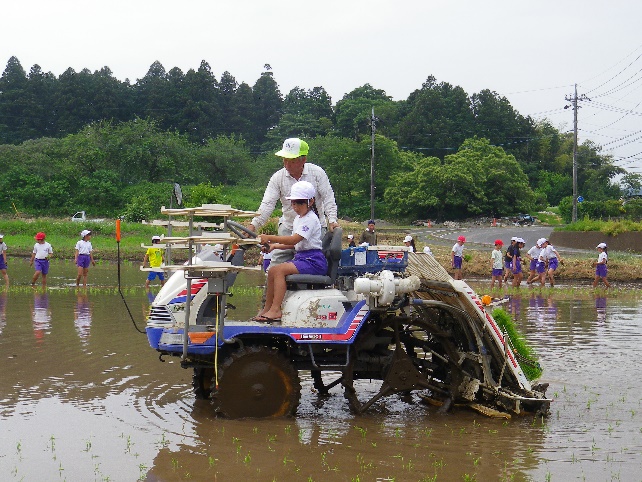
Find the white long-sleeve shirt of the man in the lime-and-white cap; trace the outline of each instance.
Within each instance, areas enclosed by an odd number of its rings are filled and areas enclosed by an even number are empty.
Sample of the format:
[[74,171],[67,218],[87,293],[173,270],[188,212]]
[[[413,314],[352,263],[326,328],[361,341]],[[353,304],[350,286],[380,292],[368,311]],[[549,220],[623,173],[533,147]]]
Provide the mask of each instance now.
[[277,201],[279,200],[283,207],[283,216],[281,216],[279,222],[290,231],[292,230],[292,223],[294,222],[294,218],[297,214],[294,209],[292,209],[290,201],[285,199],[285,196],[290,195],[292,185],[298,181],[308,181],[314,186],[314,189],[317,192],[315,204],[319,211],[319,221],[321,222],[321,226],[327,227],[328,222],[337,222],[337,202],[334,199],[334,191],[330,185],[328,175],[316,164],[306,162],[303,166],[303,174],[301,174],[300,179],[295,179],[290,176],[285,168],[272,174],[270,182],[268,182],[268,185],[265,188],[263,201],[261,201],[261,205],[258,209],[260,214],[252,219],[252,224],[257,230],[268,221],[276,207]]

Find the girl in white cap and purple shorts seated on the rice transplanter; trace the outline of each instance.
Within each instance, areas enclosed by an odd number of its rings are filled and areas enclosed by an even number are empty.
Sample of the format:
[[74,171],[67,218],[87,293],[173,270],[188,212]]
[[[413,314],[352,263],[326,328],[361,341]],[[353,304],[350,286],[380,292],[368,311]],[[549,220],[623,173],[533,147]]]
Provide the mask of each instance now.
[[270,266],[268,270],[267,293],[265,306],[254,321],[263,323],[281,321],[281,303],[287,288],[285,277],[290,274],[325,275],[328,262],[321,251],[321,223],[314,206],[316,191],[307,181],[294,183],[286,199],[297,213],[294,219],[292,235],[277,236],[261,234],[261,244],[269,243],[272,249],[294,249],[292,261]]

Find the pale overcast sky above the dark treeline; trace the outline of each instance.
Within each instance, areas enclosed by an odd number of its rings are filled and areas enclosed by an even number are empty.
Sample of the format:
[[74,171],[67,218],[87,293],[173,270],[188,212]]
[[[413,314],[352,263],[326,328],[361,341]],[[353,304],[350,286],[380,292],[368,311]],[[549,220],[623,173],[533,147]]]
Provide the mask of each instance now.
[[429,75],[470,95],[490,89],[523,115],[642,173],[642,4],[633,0],[20,0],[0,13],[0,68],[16,56],[60,75],[109,67],[135,82],[207,61],[253,85],[270,64],[282,94],[324,87],[333,103],[370,83],[406,99]]

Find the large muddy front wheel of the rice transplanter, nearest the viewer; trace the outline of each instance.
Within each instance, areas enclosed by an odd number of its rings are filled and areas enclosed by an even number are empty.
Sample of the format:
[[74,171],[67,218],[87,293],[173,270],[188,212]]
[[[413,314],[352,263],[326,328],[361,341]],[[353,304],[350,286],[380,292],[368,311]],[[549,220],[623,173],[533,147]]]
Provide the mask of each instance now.
[[267,347],[246,347],[230,355],[212,390],[217,413],[229,418],[270,418],[293,415],[301,383],[289,360]]

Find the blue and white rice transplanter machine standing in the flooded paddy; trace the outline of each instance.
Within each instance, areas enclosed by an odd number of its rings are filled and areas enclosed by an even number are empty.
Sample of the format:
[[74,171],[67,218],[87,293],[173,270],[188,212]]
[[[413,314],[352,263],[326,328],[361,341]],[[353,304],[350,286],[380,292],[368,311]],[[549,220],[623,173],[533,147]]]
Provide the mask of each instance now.
[[[163,213],[214,215],[190,209]],[[292,415],[301,372],[311,374],[319,393],[341,386],[356,413],[395,394],[443,410],[464,404],[483,413],[548,413],[547,385],[527,379],[487,306],[432,256],[405,246],[342,250],[336,228],[323,240],[328,274],[287,277],[280,322],[232,318],[229,291],[236,272],[253,269],[243,266],[244,252],[257,243],[245,237],[252,231],[229,220],[239,212],[217,215],[229,232],[164,242],[190,249],[220,243],[227,261],[203,247],[186,265],[167,266],[176,272],[152,303],[146,326],[161,361],[180,357],[181,367],[193,370],[195,396],[210,399],[216,413]],[[377,383],[376,393],[362,391],[358,380]]]

